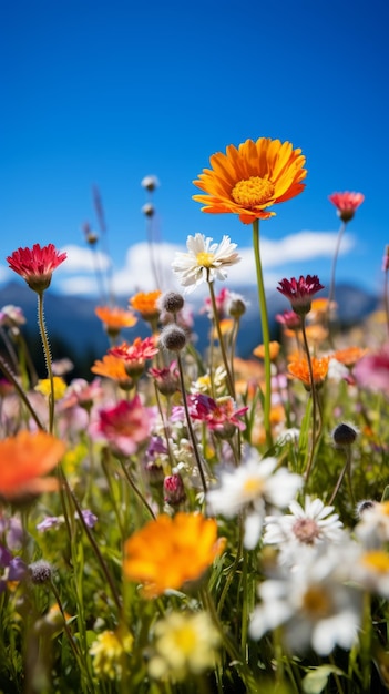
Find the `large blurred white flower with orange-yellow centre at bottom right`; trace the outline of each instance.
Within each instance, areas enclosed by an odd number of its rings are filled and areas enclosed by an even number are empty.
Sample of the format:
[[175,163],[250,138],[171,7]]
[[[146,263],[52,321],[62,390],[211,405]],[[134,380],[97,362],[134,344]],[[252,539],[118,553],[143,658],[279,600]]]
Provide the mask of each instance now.
[[362,593],[338,571],[347,543],[320,549],[300,570],[260,584],[262,603],[249,626],[253,639],[283,625],[285,645],[295,653],[313,647],[328,655],[336,645],[352,646],[361,622]]

